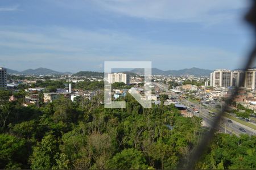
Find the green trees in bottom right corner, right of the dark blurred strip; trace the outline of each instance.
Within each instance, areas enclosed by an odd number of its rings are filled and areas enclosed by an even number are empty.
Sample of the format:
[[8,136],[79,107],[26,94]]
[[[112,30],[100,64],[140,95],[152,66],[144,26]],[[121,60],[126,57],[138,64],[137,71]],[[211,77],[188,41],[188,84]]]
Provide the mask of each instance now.
[[255,136],[218,134],[196,169],[255,169]]

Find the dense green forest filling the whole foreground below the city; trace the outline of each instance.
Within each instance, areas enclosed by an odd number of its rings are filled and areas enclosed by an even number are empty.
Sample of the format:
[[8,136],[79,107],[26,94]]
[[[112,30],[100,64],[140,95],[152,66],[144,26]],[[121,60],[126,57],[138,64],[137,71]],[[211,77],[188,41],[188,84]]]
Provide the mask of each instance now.
[[[130,95],[125,109],[105,109],[102,94],[40,107],[10,95],[0,91],[0,169],[175,169],[207,130],[174,105],[143,109]],[[255,136],[216,133],[196,168],[255,169],[255,145]]]

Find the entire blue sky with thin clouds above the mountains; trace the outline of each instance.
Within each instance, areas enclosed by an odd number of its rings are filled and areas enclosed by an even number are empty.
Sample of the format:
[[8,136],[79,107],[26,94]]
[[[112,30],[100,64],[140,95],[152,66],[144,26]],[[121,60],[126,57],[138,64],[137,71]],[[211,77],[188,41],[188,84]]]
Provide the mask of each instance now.
[[253,32],[245,0],[0,1],[0,66],[103,71],[104,61],[162,70],[235,69]]

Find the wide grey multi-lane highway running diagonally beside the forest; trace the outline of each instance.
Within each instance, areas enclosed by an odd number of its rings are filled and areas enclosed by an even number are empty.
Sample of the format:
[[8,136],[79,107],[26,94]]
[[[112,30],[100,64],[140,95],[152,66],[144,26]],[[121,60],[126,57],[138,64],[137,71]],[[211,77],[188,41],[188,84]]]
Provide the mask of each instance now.
[[[179,95],[175,94],[174,92],[171,92],[168,90],[168,86],[166,84],[163,83],[155,83],[152,82],[152,85],[157,86],[160,88],[160,90],[162,90],[162,93],[168,94],[168,95],[172,95],[174,97],[177,97],[177,99],[179,99]],[[197,108],[200,110],[199,113],[193,113],[195,116],[199,116],[201,118],[203,118],[204,124],[207,124],[208,126],[211,126],[213,124],[213,120],[214,120],[214,116],[211,116],[212,114],[210,114],[210,108],[209,107],[205,107],[203,105],[201,105],[201,109],[200,109],[200,105],[199,104],[195,104],[192,103],[191,101],[188,101],[186,99],[182,99],[179,100],[179,102],[183,103],[184,105],[186,105],[190,110],[192,111],[192,108]],[[193,107],[191,107],[191,105],[193,105]],[[251,129],[245,125],[240,124],[239,122],[233,121],[232,123],[228,122],[229,118],[226,117],[222,117],[221,118],[221,122],[218,124],[218,129],[220,130],[222,133],[232,133],[232,134],[236,134],[236,135],[240,135],[240,134],[248,134],[248,135],[256,135],[256,130]],[[246,131],[243,132],[240,129],[245,129]]]

